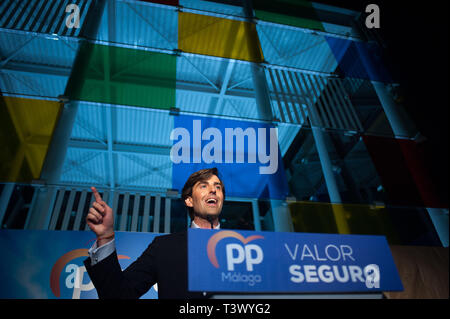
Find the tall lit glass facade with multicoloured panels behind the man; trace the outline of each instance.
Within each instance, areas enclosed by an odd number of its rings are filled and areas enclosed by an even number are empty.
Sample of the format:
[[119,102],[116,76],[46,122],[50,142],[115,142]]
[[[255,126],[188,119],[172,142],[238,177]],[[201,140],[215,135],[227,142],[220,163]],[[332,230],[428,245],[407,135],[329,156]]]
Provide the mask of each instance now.
[[[31,41],[10,23],[28,11],[0,18],[2,228],[87,230],[96,186],[116,230],[177,232],[189,224],[187,176],[219,167],[222,228],[442,244],[427,209],[448,216],[448,199],[420,146],[398,134],[380,46],[338,23],[344,13],[281,0],[253,1],[254,17],[212,1],[109,1],[89,19],[91,9],[82,29],[93,38],[48,15],[28,18]],[[42,179],[45,161],[62,166],[58,183]]]

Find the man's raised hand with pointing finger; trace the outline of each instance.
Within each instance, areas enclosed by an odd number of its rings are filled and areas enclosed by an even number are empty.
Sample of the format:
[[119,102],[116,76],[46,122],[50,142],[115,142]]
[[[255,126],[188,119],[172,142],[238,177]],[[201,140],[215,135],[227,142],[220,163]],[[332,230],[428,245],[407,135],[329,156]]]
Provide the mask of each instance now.
[[89,208],[86,223],[97,236],[98,246],[112,240],[114,236],[114,216],[111,207],[102,199],[95,187],[91,187],[95,201]]

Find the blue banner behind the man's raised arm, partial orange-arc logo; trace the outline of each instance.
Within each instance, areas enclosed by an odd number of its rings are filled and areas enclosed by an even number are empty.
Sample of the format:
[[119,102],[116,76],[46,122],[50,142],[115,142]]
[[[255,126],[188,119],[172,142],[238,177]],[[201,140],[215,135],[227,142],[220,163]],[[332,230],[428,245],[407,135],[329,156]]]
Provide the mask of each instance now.
[[[116,232],[122,269],[135,261],[156,236]],[[0,298],[98,298],[83,264],[94,241],[95,235],[89,231],[0,230]],[[155,288],[141,298],[156,299]]]

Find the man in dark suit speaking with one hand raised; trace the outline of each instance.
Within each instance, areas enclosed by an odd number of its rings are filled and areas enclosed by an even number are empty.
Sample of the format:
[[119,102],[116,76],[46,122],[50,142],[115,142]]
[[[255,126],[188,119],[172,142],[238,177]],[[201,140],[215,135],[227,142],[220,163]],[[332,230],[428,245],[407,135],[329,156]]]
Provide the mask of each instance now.
[[[191,227],[219,228],[225,188],[217,168],[193,173],[182,190],[182,199],[192,220]],[[189,292],[187,282],[187,231],[156,237],[142,255],[121,270],[114,243],[111,207],[92,187],[95,202],[86,222],[97,241],[84,261],[99,298],[139,298],[155,283],[158,297],[170,299],[205,298],[208,294]]]

